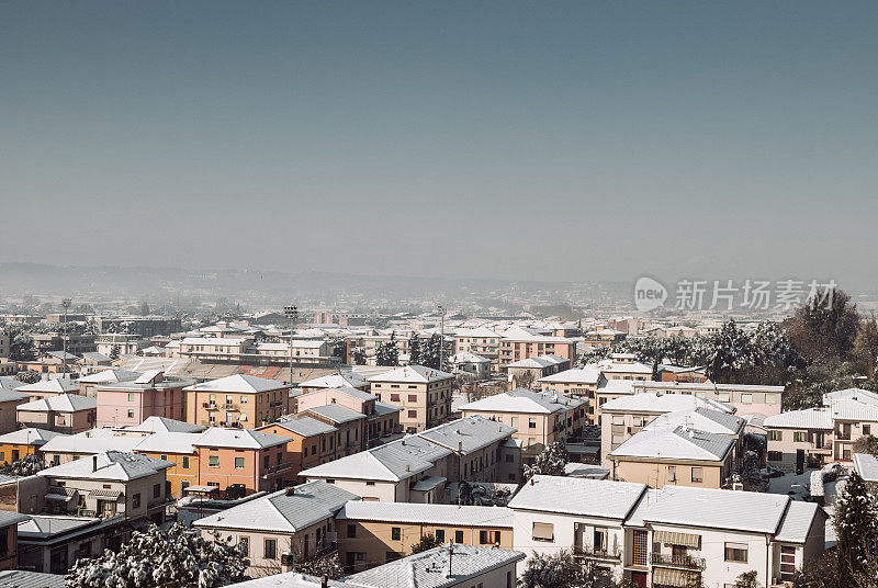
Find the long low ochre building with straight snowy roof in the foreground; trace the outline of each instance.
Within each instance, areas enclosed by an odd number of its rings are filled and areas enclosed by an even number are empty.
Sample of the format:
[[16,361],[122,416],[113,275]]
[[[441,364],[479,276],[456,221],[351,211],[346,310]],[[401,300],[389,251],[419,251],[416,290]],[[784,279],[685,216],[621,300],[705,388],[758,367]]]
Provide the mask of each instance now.
[[503,507],[351,500],[336,514],[348,573],[412,555],[425,535],[441,543],[513,549],[513,511]]

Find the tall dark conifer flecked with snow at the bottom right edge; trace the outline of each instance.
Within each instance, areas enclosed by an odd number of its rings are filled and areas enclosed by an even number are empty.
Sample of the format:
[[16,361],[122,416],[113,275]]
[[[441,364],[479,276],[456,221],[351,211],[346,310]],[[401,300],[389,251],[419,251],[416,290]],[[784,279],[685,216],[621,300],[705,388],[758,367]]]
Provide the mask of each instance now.
[[878,552],[878,504],[856,471],[851,473],[844,488],[835,497],[832,524],[837,538],[840,577],[856,578],[865,575],[875,578],[878,574],[878,568],[875,567]]

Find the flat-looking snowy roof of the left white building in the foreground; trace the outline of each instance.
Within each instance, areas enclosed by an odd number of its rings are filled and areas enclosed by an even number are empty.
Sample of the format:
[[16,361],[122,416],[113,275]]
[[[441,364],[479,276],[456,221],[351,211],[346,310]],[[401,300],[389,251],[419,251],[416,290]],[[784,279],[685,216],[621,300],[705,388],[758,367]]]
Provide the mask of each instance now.
[[509,508],[623,520],[645,490],[645,484],[630,482],[537,475]]

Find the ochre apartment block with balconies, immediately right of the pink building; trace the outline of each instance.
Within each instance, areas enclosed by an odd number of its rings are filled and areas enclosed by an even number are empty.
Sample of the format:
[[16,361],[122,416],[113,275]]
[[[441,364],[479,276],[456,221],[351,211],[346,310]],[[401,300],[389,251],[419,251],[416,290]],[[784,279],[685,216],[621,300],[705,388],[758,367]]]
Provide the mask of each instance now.
[[292,386],[275,380],[235,374],[193,384],[187,394],[187,422],[202,427],[255,429],[295,412]]

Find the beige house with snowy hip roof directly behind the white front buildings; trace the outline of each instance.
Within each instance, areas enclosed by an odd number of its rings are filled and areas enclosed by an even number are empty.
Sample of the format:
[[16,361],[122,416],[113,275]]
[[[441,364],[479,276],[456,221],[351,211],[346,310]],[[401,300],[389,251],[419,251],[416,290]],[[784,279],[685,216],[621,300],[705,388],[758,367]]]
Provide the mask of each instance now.
[[722,488],[734,468],[735,439],[685,426],[640,431],[607,459],[610,477],[663,488]]

